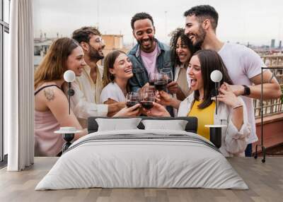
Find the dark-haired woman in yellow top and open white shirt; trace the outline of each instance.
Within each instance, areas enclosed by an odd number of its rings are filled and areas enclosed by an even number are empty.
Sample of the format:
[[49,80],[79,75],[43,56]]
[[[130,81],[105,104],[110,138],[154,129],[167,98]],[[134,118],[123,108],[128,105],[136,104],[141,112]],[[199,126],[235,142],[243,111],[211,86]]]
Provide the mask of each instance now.
[[[217,96],[220,101],[217,114],[212,98],[215,94],[214,82],[210,79],[210,74],[214,70],[219,70],[223,74]],[[226,125],[227,127],[222,128],[221,153],[225,156],[244,156],[247,138],[250,135],[246,106],[241,97],[236,97],[231,90],[230,85],[233,85],[233,82],[219,54],[213,50],[196,52],[190,59],[188,76],[194,93],[181,102],[161,91],[156,97],[161,105],[154,102],[154,107],[146,114],[156,117],[170,116],[162,105],[171,105],[178,109],[178,117],[197,117],[197,131],[205,138],[209,138],[209,129],[204,129],[204,125]]]

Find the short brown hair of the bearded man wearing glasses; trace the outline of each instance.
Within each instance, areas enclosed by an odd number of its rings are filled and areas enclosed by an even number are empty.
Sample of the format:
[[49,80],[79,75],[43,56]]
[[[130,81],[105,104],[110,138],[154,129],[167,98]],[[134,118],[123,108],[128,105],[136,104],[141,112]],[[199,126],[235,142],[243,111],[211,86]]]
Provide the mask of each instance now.
[[71,36],[77,42],[86,42],[88,43],[89,40],[93,35],[101,35],[98,29],[94,27],[82,27],[78,30],[74,30],[73,35]]

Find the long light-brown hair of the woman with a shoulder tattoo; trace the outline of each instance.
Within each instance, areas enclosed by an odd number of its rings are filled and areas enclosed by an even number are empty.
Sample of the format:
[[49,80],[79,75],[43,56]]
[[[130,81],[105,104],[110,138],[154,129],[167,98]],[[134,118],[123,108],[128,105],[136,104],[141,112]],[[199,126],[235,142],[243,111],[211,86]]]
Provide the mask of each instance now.
[[76,47],[79,47],[78,42],[68,37],[54,41],[35,71],[34,88],[47,81],[61,80],[67,71],[66,61]]

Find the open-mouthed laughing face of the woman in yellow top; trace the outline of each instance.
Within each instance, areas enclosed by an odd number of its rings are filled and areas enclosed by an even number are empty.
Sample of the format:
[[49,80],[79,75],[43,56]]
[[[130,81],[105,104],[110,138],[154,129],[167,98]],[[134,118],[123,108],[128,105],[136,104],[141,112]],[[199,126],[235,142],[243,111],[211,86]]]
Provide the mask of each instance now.
[[200,59],[197,57],[197,55],[194,55],[190,59],[188,75],[190,77],[190,87],[192,90],[202,90],[204,88]]

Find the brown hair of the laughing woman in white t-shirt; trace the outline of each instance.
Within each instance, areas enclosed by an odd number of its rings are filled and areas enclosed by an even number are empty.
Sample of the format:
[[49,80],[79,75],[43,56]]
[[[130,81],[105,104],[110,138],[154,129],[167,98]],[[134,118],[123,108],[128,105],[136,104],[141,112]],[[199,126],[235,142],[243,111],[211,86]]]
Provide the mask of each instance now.
[[115,50],[107,54],[107,56],[104,59],[104,70],[103,70],[103,87],[105,85],[108,85],[108,83],[113,82],[115,79],[115,76],[110,73],[109,69],[114,68],[115,60],[117,59],[120,54],[126,54],[125,52],[122,52],[121,50]]

